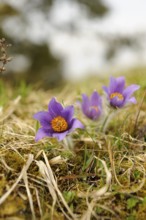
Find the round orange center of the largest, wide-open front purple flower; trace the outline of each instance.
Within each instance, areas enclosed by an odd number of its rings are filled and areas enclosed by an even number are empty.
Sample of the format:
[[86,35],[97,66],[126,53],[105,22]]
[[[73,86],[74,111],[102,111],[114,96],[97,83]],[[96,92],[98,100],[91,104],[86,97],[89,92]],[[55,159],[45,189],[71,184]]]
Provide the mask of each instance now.
[[61,116],[57,116],[53,118],[51,121],[51,125],[52,125],[53,130],[56,132],[62,132],[68,129],[67,121]]

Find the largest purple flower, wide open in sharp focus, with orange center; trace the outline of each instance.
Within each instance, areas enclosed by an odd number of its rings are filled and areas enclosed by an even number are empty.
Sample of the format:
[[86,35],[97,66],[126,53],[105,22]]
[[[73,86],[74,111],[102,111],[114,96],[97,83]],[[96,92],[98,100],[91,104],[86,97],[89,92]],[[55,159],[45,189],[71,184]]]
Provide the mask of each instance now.
[[78,119],[73,118],[73,115],[74,107],[72,105],[63,108],[55,98],[52,98],[48,105],[48,111],[41,111],[34,115],[34,118],[41,124],[35,140],[54,137],[61,141],[76,128],[83,129],[83,124]]

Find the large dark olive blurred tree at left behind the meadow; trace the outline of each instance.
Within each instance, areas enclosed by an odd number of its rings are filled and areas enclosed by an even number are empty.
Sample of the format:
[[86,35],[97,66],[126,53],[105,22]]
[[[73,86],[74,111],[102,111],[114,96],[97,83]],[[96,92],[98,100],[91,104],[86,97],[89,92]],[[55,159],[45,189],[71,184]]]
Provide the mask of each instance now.
[[[49,6],[50,4],[51,1],[48,1]],[[21,11],[6,3],[0,4],[1,23],[12,16],[21,19],[24,15],[21,14]],[[25,22],[23,24],[25,29]],[[54,86],[62,80],[60,61],[52,56],[49,46],[46,43],[43,42],[38,45],[29,41],[29,39],[27,41],[20,40],[19,37],[16,39],[11,36],[11,33],[4,32],[2,26],[0,27],[0,36],[5,37],[8,42],[11,42],[11,55],[14,57],[13,59],[15,59],[16,55],[20,54],[26,56],[30,61],[29,68],[26,72],[22,69],[15,74],[15,71],[11,70],[6,75],[3,75],[4,79],[14,83],[23,79],[28,83],[38,82],[39,85],[45,87]]]

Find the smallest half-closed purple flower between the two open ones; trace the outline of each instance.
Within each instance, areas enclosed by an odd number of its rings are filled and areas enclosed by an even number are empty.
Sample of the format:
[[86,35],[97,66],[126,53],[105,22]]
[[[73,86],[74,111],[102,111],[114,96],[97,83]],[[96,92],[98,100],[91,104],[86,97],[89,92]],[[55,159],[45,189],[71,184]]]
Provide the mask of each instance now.
[[102,113],[102,101],[98,92],[94,91],[90,97],[82,94],[82,111],[90,119],[96,120]]

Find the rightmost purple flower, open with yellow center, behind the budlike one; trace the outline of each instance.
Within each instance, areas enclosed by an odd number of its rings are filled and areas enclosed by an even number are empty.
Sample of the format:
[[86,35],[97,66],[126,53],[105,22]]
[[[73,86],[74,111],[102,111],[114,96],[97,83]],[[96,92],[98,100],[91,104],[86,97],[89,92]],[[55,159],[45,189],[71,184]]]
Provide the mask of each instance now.
[[135,84],[125,88],[125,78],[123,76],[111,77],[109,87],[103,86],[107,99],[114,108],[122,108],[127,103],[136,104],[136,99],[132,95],[139,88],[140,86]]

